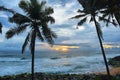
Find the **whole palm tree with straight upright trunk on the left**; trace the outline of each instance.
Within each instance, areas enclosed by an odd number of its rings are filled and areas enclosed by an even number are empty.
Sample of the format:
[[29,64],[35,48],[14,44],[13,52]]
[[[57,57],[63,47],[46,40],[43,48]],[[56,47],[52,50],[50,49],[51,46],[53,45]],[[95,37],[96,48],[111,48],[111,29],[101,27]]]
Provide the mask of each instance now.
[[15,12],[12,17],[9,18],[9,22],[15,23],[16,27],[9,29],[6,32],[6,38],[12,38],[14,35],[25,32],[26,29],[29,30],[25,38],[24,44],[22,46],[22,53],[27,45],[30,47],[32,55],[32,80],[34,80],[34,53],[35,53],[35,41],[39,39],[41,41],[46,40],[49,44],[53,44],[53,38],[56,38],[56,34],[48,27],[48,23],[54,23],[55,20],[51,16],[54,12],[53,8],[46,7],[46,2],[41,3],[38,0],[21,0],[19,7],[25,12],[25,14],[20,14]]

